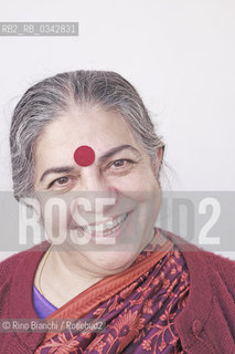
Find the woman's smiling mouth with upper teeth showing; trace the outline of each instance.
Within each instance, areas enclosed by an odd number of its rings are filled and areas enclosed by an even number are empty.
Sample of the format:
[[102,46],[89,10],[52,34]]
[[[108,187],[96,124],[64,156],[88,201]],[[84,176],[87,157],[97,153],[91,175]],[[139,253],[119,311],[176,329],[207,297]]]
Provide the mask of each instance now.
[[111,237],[122,228],[130,212],[122,214],[107,222],[99,222],[81,227],[81,229],[92,237]]

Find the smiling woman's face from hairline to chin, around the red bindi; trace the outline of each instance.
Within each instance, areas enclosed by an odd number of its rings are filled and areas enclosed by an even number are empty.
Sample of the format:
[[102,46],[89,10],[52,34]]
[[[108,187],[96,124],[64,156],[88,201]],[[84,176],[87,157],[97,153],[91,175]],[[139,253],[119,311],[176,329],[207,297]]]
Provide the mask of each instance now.
[[[95,152],[88,166],[74,160],[84,145]],[[157,168],[160,160],[161,149]],[[153,236],[157,174],[120,115],[86,107],[60,116],[35,146],[34,188],[47,236],[57,244],[65,240],[61,248],[85,270],[107,275],[126,269]]]

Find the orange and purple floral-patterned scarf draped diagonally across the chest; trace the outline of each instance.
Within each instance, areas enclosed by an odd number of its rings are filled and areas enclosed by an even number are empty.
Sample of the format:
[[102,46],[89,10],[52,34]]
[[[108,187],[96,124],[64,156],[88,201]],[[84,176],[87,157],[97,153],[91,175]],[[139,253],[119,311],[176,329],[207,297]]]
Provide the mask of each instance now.
[[104,332],[47,332],[35,354],[183,354],[173,321],[185,306],[189,272],[178,248],[161,241],[156,229],[129,269],[106,277],[45,319],[102,319]]

